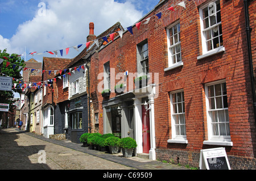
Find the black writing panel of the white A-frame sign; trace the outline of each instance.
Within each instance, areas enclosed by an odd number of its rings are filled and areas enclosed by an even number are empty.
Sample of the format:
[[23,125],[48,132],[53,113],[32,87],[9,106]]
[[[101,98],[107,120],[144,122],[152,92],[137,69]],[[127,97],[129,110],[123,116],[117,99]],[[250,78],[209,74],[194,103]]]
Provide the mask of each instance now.
[[228,170],[226,157],[207,158],[207,163],[210,170]]

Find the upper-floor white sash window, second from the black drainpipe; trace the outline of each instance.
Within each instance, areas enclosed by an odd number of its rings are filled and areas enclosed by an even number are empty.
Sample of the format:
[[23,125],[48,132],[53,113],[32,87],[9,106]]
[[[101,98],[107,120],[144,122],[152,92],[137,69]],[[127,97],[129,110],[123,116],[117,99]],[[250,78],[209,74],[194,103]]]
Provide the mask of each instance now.
[[181,63],[180,23],[167,28],[168,66]]

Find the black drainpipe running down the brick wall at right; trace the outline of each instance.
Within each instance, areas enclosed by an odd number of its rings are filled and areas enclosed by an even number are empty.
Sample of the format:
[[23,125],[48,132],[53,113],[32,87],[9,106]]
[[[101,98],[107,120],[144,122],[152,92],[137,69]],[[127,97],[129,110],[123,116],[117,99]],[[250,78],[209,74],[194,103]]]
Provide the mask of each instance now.
[[249,18],[249,2],[250,0],[243,0],[243,6],[245,8],[245,30],[247,37],[247,50],[250,66],[250,78],[251,78],[251,93],[253,95],[253,111],[254,111],[254,121],[256,124],[256,96],[255,96],[255,81],[254,81],[254,71],[253,71],[253,56],[251,53],[251,28],[250,28],[250,18]]

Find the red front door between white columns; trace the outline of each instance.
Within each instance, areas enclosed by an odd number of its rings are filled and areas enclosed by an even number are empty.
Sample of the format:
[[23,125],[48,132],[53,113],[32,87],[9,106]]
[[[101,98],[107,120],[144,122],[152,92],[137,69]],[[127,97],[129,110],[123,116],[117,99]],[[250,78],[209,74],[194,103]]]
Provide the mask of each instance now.
[[149,153],[150,150],[150,117],[148,111],[142,106],[142,139],[143,153]]

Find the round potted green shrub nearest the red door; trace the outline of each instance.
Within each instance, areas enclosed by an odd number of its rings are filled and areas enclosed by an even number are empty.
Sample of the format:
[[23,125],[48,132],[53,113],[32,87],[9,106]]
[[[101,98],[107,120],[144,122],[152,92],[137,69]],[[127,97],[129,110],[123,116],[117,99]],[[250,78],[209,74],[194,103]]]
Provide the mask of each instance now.
[[129,158],[133,156],[133,151],[137,148],[136,141],[131,137],[121,138],[119,146],[122,148],[123,157]]

